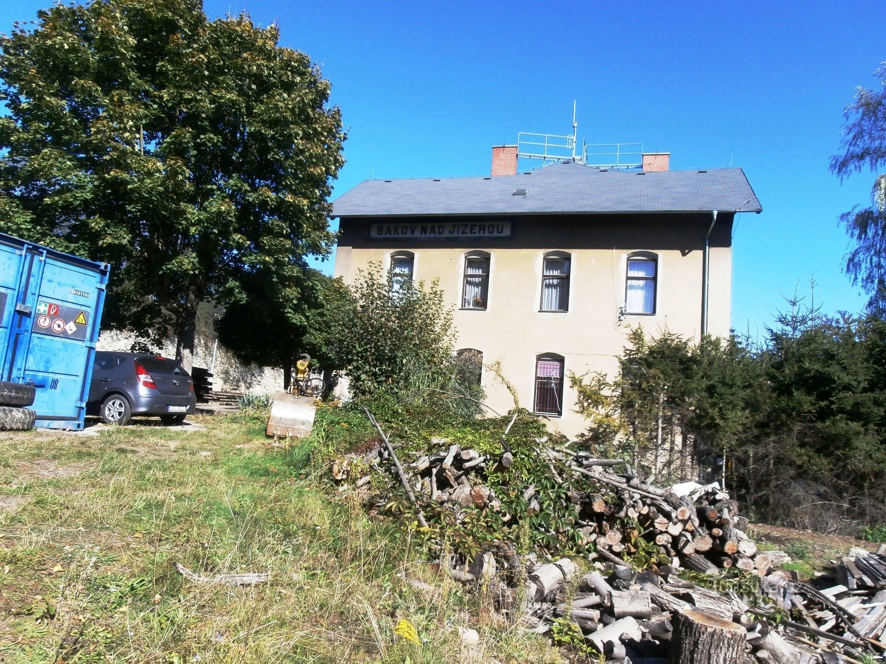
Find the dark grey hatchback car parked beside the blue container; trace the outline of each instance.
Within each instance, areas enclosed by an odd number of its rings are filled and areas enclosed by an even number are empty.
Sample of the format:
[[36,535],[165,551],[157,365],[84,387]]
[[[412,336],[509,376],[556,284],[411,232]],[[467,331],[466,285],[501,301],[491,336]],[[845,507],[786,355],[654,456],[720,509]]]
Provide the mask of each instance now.
[[174,359],[98,351],[86,408],[110,424],[128,424],[133,415],[181,424],[197,413],[197,398],[190,375]]

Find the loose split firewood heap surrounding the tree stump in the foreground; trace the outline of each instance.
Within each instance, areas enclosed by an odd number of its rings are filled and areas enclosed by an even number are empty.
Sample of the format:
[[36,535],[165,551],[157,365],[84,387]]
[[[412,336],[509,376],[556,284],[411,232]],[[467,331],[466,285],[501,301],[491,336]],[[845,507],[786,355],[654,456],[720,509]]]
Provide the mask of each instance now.
[[[886,572],[886,556],[872,554],[843,559],[837,573],[853,575],[859,560],[861,567]],[[760,584],[774,601],[751,607],[736,592],[684,581],[680,570],[671,567],[655,572],[636,572],[627,562],[597,567],[578,578],[570,559],[529,569],[521,622],[544,634],[557,620],[568,620],[608,660],[634,664],[829,664],[866,655],[879,659],[886,650],[883,579],[863,573],[878,585],[862,588],[867,581],[853,575],[853,594],[842,584],[818,590],[776,570]],[[801,614],[804,622],[791,620],[789,611]]]

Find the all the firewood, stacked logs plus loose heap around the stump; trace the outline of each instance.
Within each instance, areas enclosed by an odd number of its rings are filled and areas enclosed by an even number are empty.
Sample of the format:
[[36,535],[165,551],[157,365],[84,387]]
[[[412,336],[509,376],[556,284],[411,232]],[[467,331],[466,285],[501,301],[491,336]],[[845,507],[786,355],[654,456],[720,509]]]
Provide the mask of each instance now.
[[[398,446],[369,418],[384,444],[364,452],[359,463],[338,459],[333,475],[340,482],[365,486],[369,475],[350,468],[368,473],[386,459],[422,525],[423,506],[434,503],[455,521],[469,506],[498,511],[505,522],[523,518],[503,513],[501,498],[488,486],[490,475],[508,475],[514,462],[509,451],[491,455],[438,438],[431,441],[435,451],[413,452],[401,464]],[[642,483],[622,459],[538,443],[537,463],[556,483],[571,481],[568,500],[581,537],[591,544],[593,571],[578,575],[567,558],[538,564],[507,542],[472,560],[453,555],[438,564],[456,581],[486,583],[501,612],[527,629],[541,634],[571,622],[596,652],[634,664],[829,664],[880,660],[886,652],[886,555],[847,557],[835,562],[833,575],[817,577],[818,587],[800,583],[796,573],[779,568],[790,560],[786,553],[758,550],[746,534],[748,520],[718,484],[660,488]],[[532,484],[519,490],[526,514],[538,513],[540,491]],[[651,565],[649,552],[655,554]],[[756,579],[752,588],[740,594],[726,578],[711,578],[703,585],[719,588],[712,591],[681,578],[686,570],[720,577],[728,567],[747,573],[745,582]],[[828,579],[836,584],[821,587]]]

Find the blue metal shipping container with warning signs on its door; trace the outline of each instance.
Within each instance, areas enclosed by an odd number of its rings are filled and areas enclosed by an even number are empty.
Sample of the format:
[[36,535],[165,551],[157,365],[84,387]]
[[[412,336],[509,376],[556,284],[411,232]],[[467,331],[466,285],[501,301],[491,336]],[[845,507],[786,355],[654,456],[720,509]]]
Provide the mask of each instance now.
[[0,233],[0,380],[35,385],[37,427],[83,429],[109,272]]

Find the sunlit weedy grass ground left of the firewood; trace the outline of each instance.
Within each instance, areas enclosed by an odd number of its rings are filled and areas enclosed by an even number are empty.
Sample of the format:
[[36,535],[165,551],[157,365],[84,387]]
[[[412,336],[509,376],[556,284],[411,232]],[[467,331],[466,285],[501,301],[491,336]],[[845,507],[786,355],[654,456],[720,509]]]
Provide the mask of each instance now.
[[[0,434],[0,660],[562,660],[434,575],[408,530],[330,491],[310,439],[270,445],[248,414],[191,421]],[[270,579],[192,583],[173,561]]]

